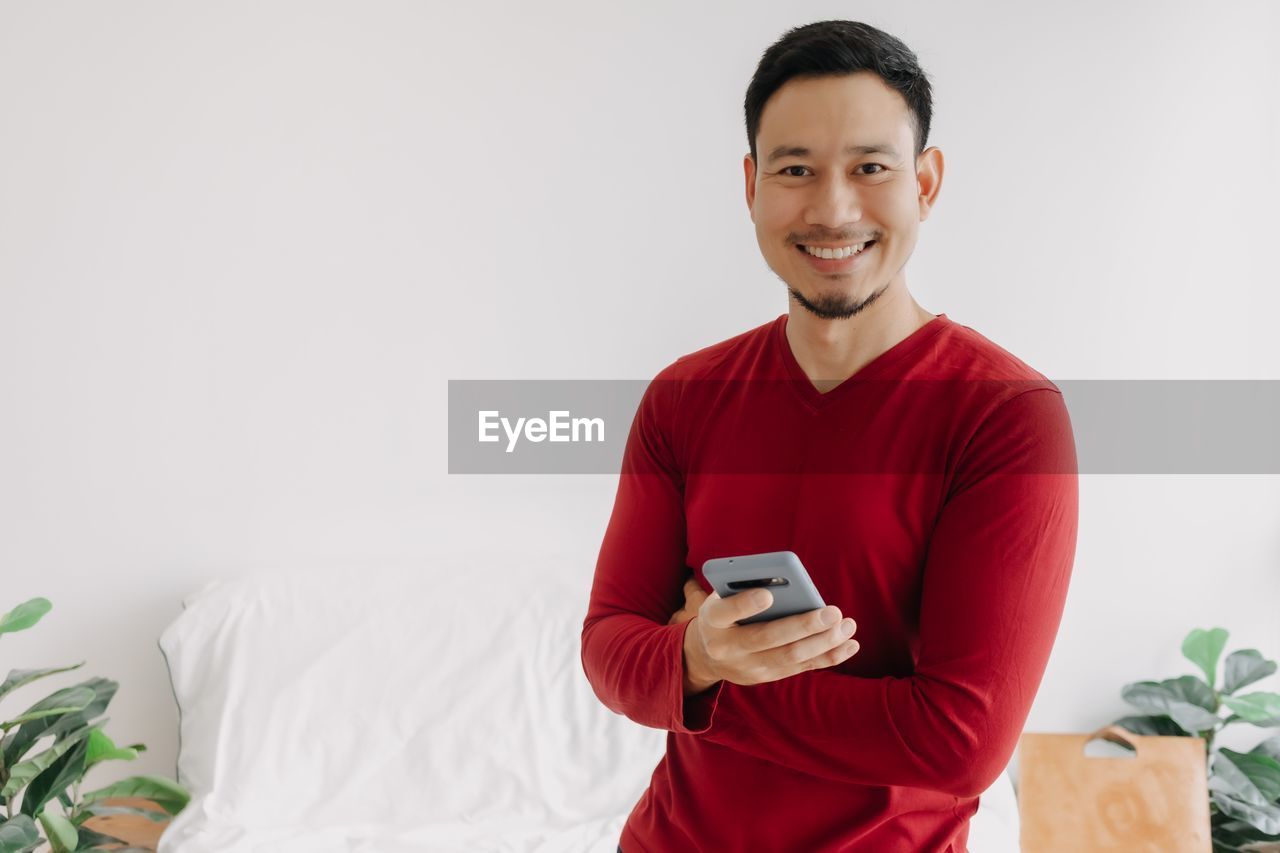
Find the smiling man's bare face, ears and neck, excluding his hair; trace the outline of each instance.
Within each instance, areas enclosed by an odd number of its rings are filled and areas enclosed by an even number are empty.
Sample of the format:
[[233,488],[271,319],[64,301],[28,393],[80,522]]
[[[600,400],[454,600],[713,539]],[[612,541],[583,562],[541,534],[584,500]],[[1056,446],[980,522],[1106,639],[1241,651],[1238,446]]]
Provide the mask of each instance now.
[[819,391],[933,319],[906,289],[906,260],[942,184],[942,152],[916,151],[929,120],[923,74],[913,95],[920,118],[873,70],[797,76],[755,117],[746,204],[791,293],[787,342]]

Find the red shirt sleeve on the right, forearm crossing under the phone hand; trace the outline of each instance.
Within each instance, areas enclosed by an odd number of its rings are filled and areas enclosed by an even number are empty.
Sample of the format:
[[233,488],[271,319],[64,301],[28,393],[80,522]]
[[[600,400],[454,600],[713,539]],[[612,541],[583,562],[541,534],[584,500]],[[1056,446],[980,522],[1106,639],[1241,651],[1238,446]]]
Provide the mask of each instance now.
[[957,464],[925,558],[914,674],[722,683],[703,736],[833,780],[979,795],[1012,757],[1048,663],[1076,515],[1061,392],[1023,391]]

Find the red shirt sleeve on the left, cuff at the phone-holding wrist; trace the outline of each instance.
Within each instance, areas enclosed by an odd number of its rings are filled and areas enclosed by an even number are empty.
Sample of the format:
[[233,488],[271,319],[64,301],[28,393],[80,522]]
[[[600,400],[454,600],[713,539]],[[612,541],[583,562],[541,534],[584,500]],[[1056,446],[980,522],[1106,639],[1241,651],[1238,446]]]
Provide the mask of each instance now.
[[710,726],[721,688],[686,701],[684,643],[691,622],[667,624],[682,607],[691,576],[684,475],[671,441],[676,364],[649,383],[631,423],[582,622],[581,657],[591,689],[609,710],[654,729],[699,734]]

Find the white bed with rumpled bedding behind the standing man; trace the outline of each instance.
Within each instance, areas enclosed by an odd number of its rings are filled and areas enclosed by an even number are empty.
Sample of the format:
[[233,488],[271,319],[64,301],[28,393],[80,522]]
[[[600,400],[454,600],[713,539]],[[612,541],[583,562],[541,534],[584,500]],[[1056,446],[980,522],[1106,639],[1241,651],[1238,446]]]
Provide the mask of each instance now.
[[[183,601],[159,646],[189,806],[159,853],[614,853],[666,733],[599,703],[595,555],[265,570]],[[972,853],[1016,853],[1007,772]]]

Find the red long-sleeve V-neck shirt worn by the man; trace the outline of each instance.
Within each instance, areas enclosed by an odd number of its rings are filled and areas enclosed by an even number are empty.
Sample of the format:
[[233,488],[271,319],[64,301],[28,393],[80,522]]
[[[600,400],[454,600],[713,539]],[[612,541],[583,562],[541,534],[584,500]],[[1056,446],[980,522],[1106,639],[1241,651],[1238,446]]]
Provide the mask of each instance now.
[[[623,451],[582,666],[667,751],[625,853],[965,850],[1062,615],[1076,459],[1061,392],[936,316],[819,392],[787,315],[649,383]],[[684,695],[668,625],[703,564],[790,549],[858,622],[847,661]]]

